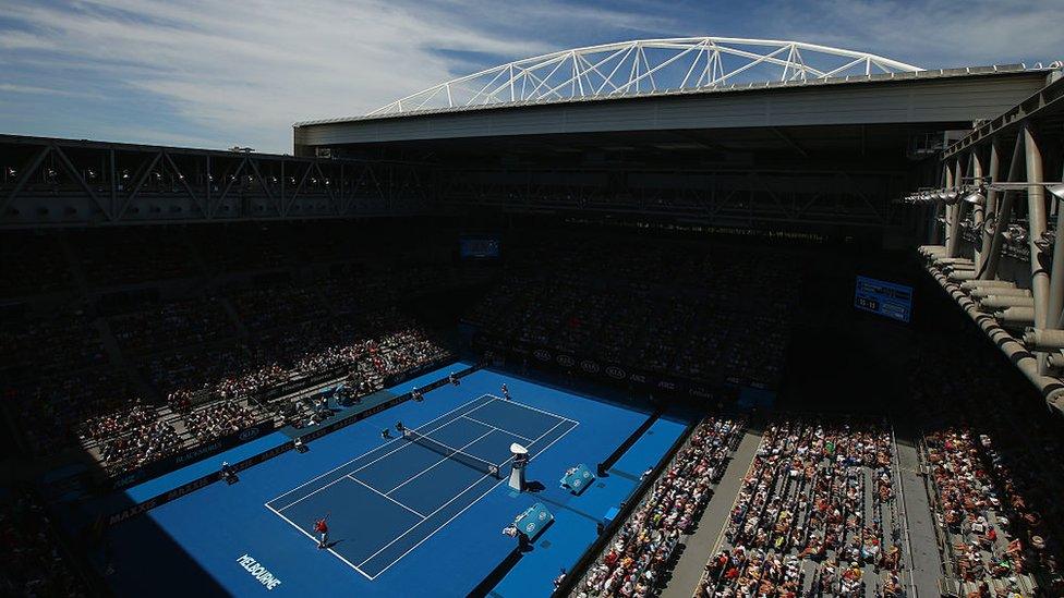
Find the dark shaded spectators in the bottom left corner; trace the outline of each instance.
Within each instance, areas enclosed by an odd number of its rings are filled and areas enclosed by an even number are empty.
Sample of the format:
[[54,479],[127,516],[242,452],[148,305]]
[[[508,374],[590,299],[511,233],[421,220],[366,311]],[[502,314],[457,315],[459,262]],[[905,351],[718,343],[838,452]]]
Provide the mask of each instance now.
[[93,595],[60,549],[57,532],[27,491],[0,496],[0,595],[81,598]]

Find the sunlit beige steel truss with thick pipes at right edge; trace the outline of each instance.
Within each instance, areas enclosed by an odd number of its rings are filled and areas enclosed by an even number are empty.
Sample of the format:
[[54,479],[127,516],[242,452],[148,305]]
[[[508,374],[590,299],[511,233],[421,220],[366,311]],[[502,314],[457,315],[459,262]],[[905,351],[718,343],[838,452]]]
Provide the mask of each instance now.
[[1064,178],[1062,122],[1064,80],[1056,80],[950,147],[942,184],[956,193],[935,194],[929,212],[944,215],[931,224],[942,227],[945,245],[921,253],[950,296],[1064,413],[1064,206],[1045,186],[1047,170],[1050,181]]

